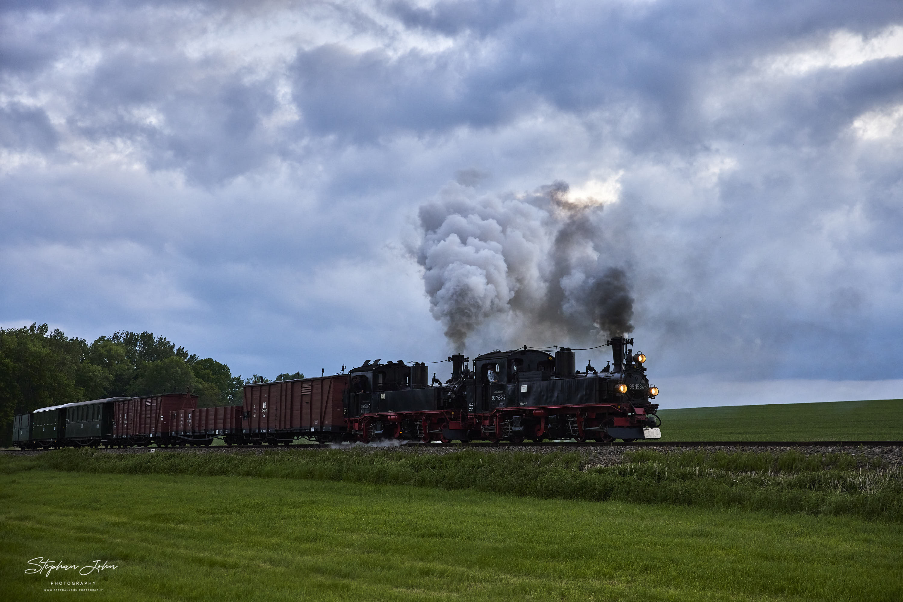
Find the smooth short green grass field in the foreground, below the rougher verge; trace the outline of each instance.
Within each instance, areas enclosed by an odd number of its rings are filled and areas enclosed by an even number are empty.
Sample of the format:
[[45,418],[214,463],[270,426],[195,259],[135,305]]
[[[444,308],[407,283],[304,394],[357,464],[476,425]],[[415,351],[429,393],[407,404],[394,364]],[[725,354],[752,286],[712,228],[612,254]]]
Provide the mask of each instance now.
[[[896,600],[903,528],[281,478],[0,475],[4,600]],[[107,560],[45,592],[27,560]]]

